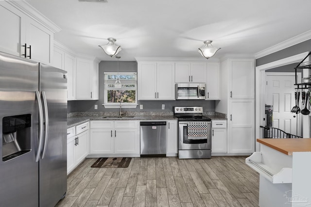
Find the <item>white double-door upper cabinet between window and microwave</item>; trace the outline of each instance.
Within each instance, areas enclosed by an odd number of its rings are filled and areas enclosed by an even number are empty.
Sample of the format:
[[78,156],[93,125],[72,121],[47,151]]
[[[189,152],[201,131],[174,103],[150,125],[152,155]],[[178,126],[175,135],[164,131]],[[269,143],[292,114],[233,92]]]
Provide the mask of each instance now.
[[172,62],[138,62],[138,100],[175,100]]

